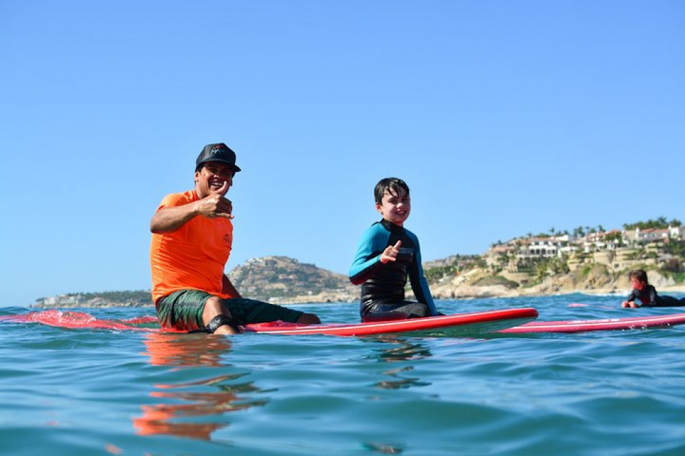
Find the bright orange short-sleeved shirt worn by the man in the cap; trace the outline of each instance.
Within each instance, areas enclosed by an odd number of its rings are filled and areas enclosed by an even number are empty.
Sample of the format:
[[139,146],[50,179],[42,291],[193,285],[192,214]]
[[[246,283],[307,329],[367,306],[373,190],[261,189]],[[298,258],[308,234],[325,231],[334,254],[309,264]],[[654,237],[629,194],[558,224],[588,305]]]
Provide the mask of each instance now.
[[[182,206],[199,198],[195,190],[168,194],[160,207]],[[152,234],[150,266],[152,269],[152,299],[178,290],[203,290],[221,298],[223,268],[228,262],[233,244],[233,223],[228,218],[195,216],[185,225],[169,233]]]

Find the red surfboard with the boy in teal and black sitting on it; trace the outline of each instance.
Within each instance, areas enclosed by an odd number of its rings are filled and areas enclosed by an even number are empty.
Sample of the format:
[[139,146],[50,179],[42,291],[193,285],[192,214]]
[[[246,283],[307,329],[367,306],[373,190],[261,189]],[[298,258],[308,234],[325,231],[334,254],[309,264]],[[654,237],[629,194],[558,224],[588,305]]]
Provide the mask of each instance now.
[[536,309],[523,308],[353,324],[297,325],[295,323],[270,322],[247,325],[245,333],[288,335],[377,335],[403,333],[410,335],[470,336],[493,333],[501,329],[523,325],[525,322],[535,320],[537,316],[538,311]]

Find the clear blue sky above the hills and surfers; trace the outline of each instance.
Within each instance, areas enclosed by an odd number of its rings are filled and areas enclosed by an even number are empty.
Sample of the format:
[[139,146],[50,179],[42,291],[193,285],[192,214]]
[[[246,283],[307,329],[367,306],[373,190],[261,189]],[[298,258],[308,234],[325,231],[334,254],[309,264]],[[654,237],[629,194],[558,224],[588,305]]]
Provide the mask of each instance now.
[[149,220],[238,155],[227,270],[347,273],[405,179],[423,259],[685,218],[682,1],[0,3],[0,305],[150,288]]

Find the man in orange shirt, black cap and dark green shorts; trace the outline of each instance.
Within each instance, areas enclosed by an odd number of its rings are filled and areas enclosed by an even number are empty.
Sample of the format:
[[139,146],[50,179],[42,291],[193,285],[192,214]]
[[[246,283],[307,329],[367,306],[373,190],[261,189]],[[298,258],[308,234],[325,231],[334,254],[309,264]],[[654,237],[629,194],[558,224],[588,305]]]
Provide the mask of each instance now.
[[248,323],[321,322],[243,299],[223,273],[233,244],[233,207],[225,195],[238,171],[234,151],[208,144],[195,162],[195,189],[166,195],[152,217],[152,299],[162,327],[236,334]]

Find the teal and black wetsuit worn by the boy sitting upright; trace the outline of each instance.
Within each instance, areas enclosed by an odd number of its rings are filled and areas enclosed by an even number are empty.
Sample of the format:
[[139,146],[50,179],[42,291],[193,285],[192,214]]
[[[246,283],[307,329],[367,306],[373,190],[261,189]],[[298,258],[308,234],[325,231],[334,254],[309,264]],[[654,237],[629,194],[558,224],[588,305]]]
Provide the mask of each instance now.
[[[402,244],[395,261],[381,263],[381,253],[398,240]],[[405,300],[407,277],[418,303]],[[362,285],[362,321],[438,315],[423,275],[419,238],[408,229],[393,225],[388,220],[374,223],[362,235],[357,255],[349,270],[349,279],[355,285]]]

